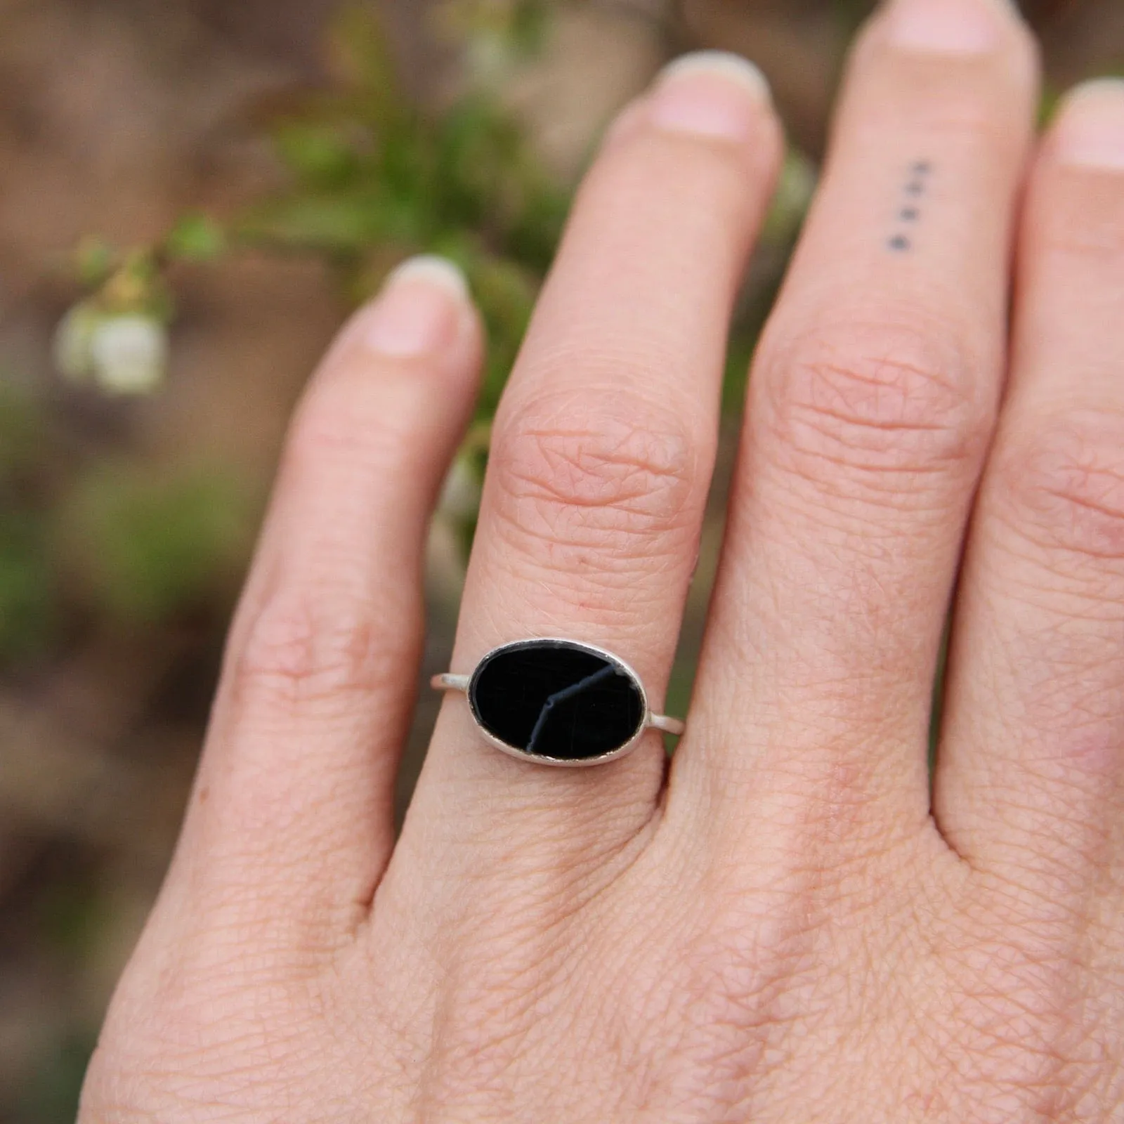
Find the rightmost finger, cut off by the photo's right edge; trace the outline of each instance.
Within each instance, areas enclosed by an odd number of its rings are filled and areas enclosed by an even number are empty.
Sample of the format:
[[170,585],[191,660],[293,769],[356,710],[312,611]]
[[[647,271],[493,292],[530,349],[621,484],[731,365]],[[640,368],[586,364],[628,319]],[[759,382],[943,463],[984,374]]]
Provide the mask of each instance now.
[[[1023,221],[1015,363],[954,625],[935,809],[1068,901],[1105,871],[1124,758],[1124,83],[1079,89]],[[1115,824],[1115,827],[1112,825]],[[1118,860],[1120,853],[1117,851]]]

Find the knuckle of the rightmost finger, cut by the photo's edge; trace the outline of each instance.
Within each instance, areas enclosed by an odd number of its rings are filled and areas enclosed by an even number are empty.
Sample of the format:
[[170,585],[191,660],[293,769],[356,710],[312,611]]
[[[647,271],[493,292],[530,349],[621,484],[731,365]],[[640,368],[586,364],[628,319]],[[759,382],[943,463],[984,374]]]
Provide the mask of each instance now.
[[1124,415],[1024,425],[996,468],[999,511],[1051,560],[1124,562]]

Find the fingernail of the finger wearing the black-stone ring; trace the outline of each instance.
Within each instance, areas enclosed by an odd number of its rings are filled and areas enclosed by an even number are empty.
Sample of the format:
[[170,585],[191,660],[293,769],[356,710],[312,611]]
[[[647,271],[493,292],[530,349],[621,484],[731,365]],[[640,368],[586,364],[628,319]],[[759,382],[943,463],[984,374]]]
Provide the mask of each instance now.
[[677,133],[742,140],[753,135],[769,101],[769,83],[753,63],[725,51],[697,51],[660,72],[649,120]]

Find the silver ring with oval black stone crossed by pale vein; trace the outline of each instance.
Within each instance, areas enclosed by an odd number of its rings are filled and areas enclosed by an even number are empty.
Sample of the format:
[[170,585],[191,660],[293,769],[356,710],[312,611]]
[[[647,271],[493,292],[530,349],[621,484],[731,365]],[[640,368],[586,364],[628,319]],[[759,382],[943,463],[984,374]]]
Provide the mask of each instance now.
[[572,640],[517,640],[492,649],[470,676],[434,676],[439,691],[464,691],[472,717],[497,749],[544,765],[599,765],[624,756],[645,729],[681,734],[652,714],[640,676],[619,656]]

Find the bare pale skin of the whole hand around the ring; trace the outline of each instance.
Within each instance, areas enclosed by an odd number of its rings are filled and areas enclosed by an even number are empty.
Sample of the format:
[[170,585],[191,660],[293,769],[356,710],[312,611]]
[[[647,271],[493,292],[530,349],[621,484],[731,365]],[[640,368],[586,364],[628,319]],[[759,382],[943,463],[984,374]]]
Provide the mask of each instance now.
[[[83,1124],[1122,1118],[1124,85],[1042,138],[1036,99],[1003,0],[873,18],[754,361],[671,763],[655,733],[514,760],[452,695],[397,840],[481,334],[432,264],[356,315],[293,423]],[[781,147],[728,60],[610,130],[496,422],[454,671],[562,635],[662,700]]]

